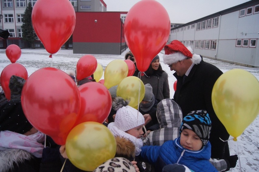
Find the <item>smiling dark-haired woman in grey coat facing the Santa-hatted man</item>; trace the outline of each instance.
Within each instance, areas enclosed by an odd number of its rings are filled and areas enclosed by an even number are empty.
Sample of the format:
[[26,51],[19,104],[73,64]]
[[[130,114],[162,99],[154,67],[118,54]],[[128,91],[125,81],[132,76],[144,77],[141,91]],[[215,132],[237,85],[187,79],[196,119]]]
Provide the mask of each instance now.
[[144,73],[139,72],[138,77],[144,84],[150,84],[152,86],[153,94],[158,102],[165,98],[170,98],[168,75],[163,71],[158,55],[154,57],[147,71]]

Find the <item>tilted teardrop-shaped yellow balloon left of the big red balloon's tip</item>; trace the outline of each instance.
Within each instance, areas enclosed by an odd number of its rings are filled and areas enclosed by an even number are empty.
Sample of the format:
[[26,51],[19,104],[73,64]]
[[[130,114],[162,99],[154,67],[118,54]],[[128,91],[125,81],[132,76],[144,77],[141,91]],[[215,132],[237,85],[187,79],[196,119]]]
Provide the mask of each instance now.
[[112,60],[104,71],[104,86],[109,89],[128,76],[129,68],[123,60]]

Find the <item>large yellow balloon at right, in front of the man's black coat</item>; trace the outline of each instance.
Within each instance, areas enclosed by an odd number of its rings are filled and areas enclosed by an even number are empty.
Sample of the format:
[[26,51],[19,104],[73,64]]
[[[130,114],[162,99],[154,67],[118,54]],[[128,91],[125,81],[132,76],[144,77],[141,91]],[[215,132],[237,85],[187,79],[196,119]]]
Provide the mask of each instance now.
[[217,79],[211,99],[217,117],[236,141],[259,113],[259,82],[248,71],[232,69]]

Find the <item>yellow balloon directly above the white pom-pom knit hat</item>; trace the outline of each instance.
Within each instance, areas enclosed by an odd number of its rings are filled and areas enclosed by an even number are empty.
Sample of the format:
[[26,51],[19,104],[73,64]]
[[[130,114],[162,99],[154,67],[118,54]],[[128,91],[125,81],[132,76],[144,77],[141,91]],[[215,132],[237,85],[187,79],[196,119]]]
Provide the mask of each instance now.
[[144,83],[138,77],[126,77],[118,85],[117,96],[122,97],[124,100],[126,98],[130,99],[129,106],[137,108],[138,102],[141,102],[145,96]]

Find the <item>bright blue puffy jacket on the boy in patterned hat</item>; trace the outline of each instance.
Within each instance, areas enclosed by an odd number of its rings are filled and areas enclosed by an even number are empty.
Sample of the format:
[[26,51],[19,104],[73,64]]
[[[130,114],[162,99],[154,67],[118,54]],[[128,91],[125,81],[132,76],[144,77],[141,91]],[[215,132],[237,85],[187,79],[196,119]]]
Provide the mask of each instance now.
[[191,151],[180,145],[180,137],[169,140],[162,146],[143,146],[140,153],[144,162],[155,164],[155,171],[162,171],[168,164],[179,163],[195,172],[217,171],[209,162],[211,145],[208,142],[199,151]]

